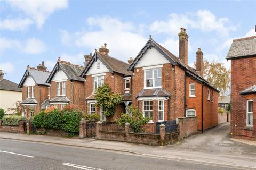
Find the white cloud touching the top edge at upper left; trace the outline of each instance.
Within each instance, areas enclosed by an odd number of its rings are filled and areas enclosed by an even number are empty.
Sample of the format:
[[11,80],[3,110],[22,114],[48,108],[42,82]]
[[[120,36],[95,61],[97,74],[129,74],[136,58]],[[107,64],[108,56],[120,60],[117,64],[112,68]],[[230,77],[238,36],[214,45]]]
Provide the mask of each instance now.
[[56,10],[65,9],[67,0],[37,0],[37,1],[14,1],[7,0],[15,10],[21,10],[35,20],[37,27],[41,28],[45,20]]

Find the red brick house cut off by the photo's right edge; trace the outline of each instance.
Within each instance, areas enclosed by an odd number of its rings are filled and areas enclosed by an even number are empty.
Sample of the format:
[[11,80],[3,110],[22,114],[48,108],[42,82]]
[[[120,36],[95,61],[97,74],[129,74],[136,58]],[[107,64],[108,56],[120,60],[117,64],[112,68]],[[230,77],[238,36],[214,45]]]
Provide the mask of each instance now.
[[256,36],[234,39],[231,60],[231,135],[256,140]]

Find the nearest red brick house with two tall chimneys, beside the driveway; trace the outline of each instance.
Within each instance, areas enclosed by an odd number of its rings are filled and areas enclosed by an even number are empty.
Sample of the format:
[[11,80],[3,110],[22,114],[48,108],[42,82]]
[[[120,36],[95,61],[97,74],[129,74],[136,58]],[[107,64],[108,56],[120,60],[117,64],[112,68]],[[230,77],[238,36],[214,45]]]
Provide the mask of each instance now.
[[203,78],[203,52],[196,52],[196,69],[188,66],[188,35],[179,33],[179,57],[151,36],[129,66],[132,103],[151,122],[197,117],[197,130],[218,125],[218,93]]

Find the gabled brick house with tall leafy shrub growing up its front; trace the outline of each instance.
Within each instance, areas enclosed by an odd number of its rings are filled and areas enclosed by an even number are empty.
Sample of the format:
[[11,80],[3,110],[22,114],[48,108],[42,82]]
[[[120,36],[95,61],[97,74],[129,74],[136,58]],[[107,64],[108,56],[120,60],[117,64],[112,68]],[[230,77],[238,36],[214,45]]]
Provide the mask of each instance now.
[[[121,94],[124,100],[123,103],[117,106],[116,113],[108,121],[114,121],[132,103],[132,72],[127,71],[129,64],[109,56],[108,53],[109,49],[107,49],[107,44],[105,43],[99,48],[99,52],[95,50],[92,56],[86,55],[86,66],[81,74],[81,77],[85,79],[85,110],[90,115],[94,113],[100,114],[101,121],[106,121],[106,116],[104,116],[103,107],[95,107],[95,90],[103,83],[108,84],[115,94]],[[129,61],[131,62],[132,59]]]

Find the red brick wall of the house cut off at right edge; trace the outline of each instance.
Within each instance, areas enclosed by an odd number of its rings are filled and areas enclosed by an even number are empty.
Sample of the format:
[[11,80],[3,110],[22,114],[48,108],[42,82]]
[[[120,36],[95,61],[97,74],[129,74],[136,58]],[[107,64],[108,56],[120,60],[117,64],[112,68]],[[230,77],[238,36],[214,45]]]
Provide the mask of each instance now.
[[[256,82],[256,56],[231,60],[231,133],[233,137],[256,139],[256,95],[240,95]],[[253,99],[253,128],[246,129],[246,100]]]

